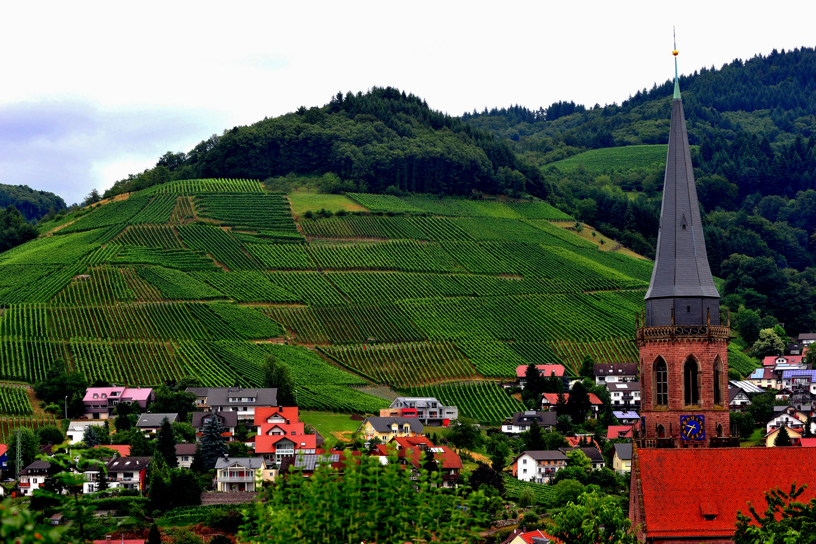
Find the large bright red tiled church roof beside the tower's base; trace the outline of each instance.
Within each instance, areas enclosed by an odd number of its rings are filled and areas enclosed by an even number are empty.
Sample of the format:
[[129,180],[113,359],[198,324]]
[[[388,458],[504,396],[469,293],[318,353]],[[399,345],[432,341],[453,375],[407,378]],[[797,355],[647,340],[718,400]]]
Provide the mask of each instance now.
[[[816,481],[812,448],[637,449],[637,461],[649,538],[731,537],[748,502],[765,511],[766,491]],[[798,500],[814,496],[809,486]]]

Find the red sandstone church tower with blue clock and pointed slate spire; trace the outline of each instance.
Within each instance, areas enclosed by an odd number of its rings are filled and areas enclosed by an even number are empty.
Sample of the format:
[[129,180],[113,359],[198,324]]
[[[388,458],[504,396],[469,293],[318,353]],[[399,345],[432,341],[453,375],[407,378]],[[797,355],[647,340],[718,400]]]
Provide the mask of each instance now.
[[638,316],[641,448],[732,445],[728,342],[708,266],[677,80],[654,269]]

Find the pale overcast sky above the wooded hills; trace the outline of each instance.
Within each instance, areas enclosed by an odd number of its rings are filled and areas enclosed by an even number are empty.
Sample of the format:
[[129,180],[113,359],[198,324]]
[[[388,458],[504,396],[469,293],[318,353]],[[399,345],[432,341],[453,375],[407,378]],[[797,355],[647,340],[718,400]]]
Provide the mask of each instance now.
[[396,86],[473,108],[620,103],[816,46],[816,2],[8,2],[0,183],[80,201],[225,127]]

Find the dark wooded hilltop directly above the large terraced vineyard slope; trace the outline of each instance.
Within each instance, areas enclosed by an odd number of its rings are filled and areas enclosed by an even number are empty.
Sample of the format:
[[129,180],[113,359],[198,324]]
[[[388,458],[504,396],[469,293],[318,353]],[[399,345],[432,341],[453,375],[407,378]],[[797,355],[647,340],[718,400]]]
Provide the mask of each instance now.
[[166,153],[153,170],[113,185],[106,197],[171,179],[267,179],[334,173],[350,190],[441,194],[535,188],[539,170],[505,142],[392,87],[338,93],[322,108],[236,126],[189,153]]

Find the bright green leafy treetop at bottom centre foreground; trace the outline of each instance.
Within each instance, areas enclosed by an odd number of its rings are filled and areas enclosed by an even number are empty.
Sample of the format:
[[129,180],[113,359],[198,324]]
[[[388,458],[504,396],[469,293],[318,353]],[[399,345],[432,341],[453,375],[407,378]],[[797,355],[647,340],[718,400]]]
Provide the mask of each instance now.
[[[359,463],[359,464],[357,464]],[[481,491],[442,489],[437,471],[345,456],[343,475],[328,466],[310,478],[292,472],[268,490],[268,502],[245,512],[240,542],[478,542],[488,499]],[[423,465],[424,466],[424,465]]]

